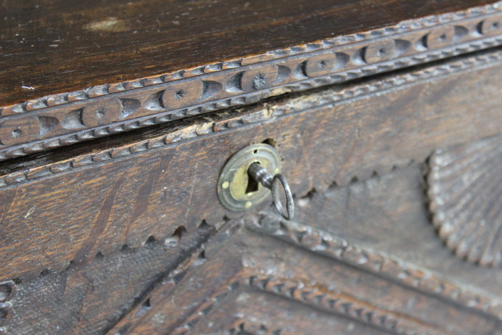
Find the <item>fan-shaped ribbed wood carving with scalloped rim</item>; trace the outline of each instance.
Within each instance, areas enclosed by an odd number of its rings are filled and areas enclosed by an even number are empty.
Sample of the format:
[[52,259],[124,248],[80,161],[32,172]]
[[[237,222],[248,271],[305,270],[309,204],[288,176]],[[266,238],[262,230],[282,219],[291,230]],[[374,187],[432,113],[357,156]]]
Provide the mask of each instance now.
[[430,159],[430,209],[439,236],[459,257],[502,263],[502,137],[446,150]]

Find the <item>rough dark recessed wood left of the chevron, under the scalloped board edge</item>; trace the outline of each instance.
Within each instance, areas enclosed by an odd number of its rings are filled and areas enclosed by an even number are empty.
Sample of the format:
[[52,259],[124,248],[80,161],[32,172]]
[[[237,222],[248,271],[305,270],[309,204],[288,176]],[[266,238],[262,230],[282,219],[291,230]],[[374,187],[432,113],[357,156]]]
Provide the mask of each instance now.
[[[8,283],[15,294],[9,299],[12,307],[6,308],[12,318],[3,326],[8,334],[103,333],[156,285],[174,289],[185,267],[203,262],[200,246],[213,232],[206,224],[193,234],[180,227],[168,241],[151,238],[136,249],[99,253],[86,266],[72,263],[58,274],[44,272],[26,283]],[[140,305],[142,312],[148,310],[147,304]]]

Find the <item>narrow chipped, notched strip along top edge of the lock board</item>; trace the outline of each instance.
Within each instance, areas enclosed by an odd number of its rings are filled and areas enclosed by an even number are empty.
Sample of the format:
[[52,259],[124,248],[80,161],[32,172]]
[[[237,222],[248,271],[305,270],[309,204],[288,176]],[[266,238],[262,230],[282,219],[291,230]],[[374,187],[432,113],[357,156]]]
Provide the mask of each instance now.
[[279,101],[275,105],[263,103],[250,108],[224,111],[219,114],[186,121],[182,120],[175,124],[174,127],[170,127],[167,134],[160,131],[161,134],[149,134],[147,139],[141,139],[141,135],[140,138],[126,138],[125,140],[118,139],[114,141],[110,139],[106,141],[106,147],[108,147],[106,149],[93,148],[89,153],[62,159],[56,155],[56,157],[47,160],[41,159],[40,162],[32,162],[35,166],[29,168],[26,168],[25,162],[5,165],[0,169],[0,189],[30,183],[32,180],[51,177],[61,172],[81,169],[104,161],[134,157],[148,150],[175,147],[180,142],[190,141],[200,136],[275,120],[282,116],[330,105],[338,101],[363,98],[371,94],[406,87],[410,84],[447,76],[452,73],[494,66],[499,64],[501,60],[502,51],[500,50],[480,52],[471,57],[459,58],[455,61],[413,72],[405,72],[383,79],[379,78],[363,84],[350,85],[345,89],[337,90],[336,93],[329,90],[324,92],[321,99],[319,99],[318,92],[308,95],[302,94],[298,98],[284,99],[284,101]]

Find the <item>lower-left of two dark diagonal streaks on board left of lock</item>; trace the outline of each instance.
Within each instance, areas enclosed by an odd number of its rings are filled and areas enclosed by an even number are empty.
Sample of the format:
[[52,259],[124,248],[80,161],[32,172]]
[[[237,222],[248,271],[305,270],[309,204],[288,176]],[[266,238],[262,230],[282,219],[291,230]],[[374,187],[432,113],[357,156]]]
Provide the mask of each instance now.
[[124,180],[124,175],[121,175],[117,181],[113,184],[113,187],[110,189],[106,198],[103,201],[99,214],[97,215],[94,223],[92,224],[92,231],[87,237],[87,240],[83,243],[82,247],[75,253],[75,257],[73,257],[73,261],[75,264],[83,264],[87,259],[89,252],[92,250],[98,237],[103,233],[104,228],[106,227],[106,222],[108,222],[108,218],[111,212],[111,206],[113,205],[113,200],[115,199],[115,195],[117,194],[120,185]]

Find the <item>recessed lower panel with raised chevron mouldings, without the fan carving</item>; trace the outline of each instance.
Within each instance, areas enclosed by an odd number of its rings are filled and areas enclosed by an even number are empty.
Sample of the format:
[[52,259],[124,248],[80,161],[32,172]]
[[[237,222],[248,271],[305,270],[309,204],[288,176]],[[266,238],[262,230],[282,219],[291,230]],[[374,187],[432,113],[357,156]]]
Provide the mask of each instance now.
[[425,171],[413,164],[313,192],[298,201],[298,221],[246,213],[200,247],[213,232],[206,224],[60,274],[8,282],[14,293],[3,327],[13,335],[500,330],[500,270],[454,257],[434,235]]

